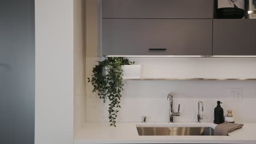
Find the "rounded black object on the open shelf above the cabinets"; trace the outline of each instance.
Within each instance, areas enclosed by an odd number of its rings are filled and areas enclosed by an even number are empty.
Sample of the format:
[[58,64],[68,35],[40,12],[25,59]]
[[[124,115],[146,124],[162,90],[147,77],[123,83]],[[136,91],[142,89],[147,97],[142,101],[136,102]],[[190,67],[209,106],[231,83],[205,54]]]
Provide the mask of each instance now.
[[245,17],[245,10],[240,8],[219,8],[217,9],[218,19],[242,19]]

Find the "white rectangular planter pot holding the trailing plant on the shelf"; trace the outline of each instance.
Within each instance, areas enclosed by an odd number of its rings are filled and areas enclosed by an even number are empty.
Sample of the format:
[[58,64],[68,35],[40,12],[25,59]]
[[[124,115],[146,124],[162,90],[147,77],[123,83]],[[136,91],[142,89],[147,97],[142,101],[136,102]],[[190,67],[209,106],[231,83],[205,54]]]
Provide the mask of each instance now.
[[[123,65],[123,79],[141,79],[141,65]],[[107,68],[103,69],[103,75],[107,75]]]

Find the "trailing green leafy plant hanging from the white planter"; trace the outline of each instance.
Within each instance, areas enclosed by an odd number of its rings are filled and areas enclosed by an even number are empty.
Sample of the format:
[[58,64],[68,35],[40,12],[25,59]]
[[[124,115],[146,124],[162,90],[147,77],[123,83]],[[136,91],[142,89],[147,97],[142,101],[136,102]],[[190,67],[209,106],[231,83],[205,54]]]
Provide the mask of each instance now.
[[[117,127],[117,113],[120,106],[121,92],[123,91],[123,69],[122,65],[131,65],[135,62],[130,62],[129,59],[123,57],[108,57],[104,61],[97,61],[98,64],[92,70],[91,79],[88,77],[88,82],[91,82],[94,89],[92,92],[97,93],[103,103],[109,100],[108,118],[110,125]],[[104,71],[106,70],[106,73]]]

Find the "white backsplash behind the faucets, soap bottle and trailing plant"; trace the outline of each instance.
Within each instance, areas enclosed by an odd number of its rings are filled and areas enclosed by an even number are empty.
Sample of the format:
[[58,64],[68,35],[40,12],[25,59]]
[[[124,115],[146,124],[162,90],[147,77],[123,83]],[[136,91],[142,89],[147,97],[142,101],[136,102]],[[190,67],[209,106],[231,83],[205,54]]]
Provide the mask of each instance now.
[[[86,75],[91,76],[96,60],[86,58]],[[142,65],[142,78],[256,78],[256,58],[130,58]],[[213,121],[217,100],[224,114],[233,110],[236,122],[256,122],[256,81],[124,81],[118,122],[167,122],[169,101],[181,104],[181,116],[175,122],[196,122],[197,102],[203,101],[203,122]],[[86,85],[86,122],[108,122],[108,104],[102,104],[92,86]],[[229,89],[242,88],[242,101],[229,102]]]

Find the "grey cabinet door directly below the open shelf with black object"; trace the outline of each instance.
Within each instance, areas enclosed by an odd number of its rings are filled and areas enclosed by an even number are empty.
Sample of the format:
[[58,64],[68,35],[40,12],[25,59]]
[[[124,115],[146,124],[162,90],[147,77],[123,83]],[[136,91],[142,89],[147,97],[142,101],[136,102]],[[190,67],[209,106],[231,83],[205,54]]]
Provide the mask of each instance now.
[[256,55],[256,20],[213,20],[213,55]]

